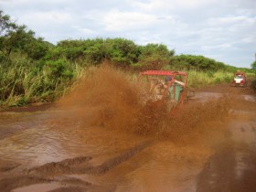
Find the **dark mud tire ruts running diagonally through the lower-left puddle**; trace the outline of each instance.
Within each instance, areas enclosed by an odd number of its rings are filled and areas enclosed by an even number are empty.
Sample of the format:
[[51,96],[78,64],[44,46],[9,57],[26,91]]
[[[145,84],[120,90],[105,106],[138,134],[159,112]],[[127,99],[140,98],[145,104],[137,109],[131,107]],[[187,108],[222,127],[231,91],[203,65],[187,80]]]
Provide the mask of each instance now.
[[[51,162],[45,165],[28,169],[23,175],[7,177],[0,180],[0,191],[11,191],[18,187],[27,187],[34,184],[58,182],[68,187],[59,187],[52,191],[87,191],[92,184],[78,178],[66,177],[61,175],[79,174],[101,176],[110,171],[113,167],[120,165],[129,160],[134,155],[142,152],[145,148],[154,144],[153,140],[147,140],[140,144],[127,149],[123,154],[117,155],[101,165],[89,166],[88,163],[92,158],[90,156],[79,156],[65,159],[60,162]],[[60,176],[60,177],[59,177]],[[93,186],[95,187],[95,186]]]

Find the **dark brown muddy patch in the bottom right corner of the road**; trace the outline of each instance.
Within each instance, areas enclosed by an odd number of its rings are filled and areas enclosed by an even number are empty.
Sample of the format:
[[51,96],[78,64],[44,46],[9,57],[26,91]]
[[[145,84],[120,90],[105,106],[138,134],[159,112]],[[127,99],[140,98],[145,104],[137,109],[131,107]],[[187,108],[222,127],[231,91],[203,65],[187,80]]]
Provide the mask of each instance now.
[[233,135],[219,144],[197,176],[197,192],[256,191],[255,125],[244,123],[231,128],[233,132],[237,129],[240,137]]

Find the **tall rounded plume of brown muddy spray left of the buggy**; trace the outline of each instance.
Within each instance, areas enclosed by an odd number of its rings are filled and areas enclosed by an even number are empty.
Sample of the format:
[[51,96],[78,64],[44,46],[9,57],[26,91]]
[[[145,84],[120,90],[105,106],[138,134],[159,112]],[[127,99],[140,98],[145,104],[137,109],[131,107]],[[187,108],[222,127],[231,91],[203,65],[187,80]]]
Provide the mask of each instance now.
[[129,129],[140,110],[138,87],[123,71],[103,66],[59,102],[85,125]]

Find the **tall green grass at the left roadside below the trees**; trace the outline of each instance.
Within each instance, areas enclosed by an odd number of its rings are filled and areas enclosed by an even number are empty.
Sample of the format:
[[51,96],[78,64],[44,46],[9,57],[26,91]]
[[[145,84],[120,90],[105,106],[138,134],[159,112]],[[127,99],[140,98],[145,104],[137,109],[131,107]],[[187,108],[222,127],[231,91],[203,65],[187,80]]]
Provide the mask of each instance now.
[[12,55],[0,63],[0,107],[57,100],[84,73],[76,63],[68,62],[67,66],[71,78],[56,76],[50,66],[37,66],[23,55]]

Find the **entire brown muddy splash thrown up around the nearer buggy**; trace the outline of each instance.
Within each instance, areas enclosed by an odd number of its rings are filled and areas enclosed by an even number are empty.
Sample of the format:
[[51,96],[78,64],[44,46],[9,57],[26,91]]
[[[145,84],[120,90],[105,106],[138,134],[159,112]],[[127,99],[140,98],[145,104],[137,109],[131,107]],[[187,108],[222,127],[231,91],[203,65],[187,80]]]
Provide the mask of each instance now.
[[[172,141],[185,141],[194,134],[207,134],[208,123],[221,123],[230,109],[230,98],[219,96],[205,102],[193,102],[171,116],[166,106],[144,106],[144,87],[127,73],[101,66],[59,102],[69,117],[83,125],[96,125],[129,133]],[[215,131],[219,130],[215,124]],[[207,129],[212,130],[212,129]],[[188,135],[189,134],[189,135]],[[184,138],[183,138],[184,137]],[[195,138],[196,139],[196,138]]]

